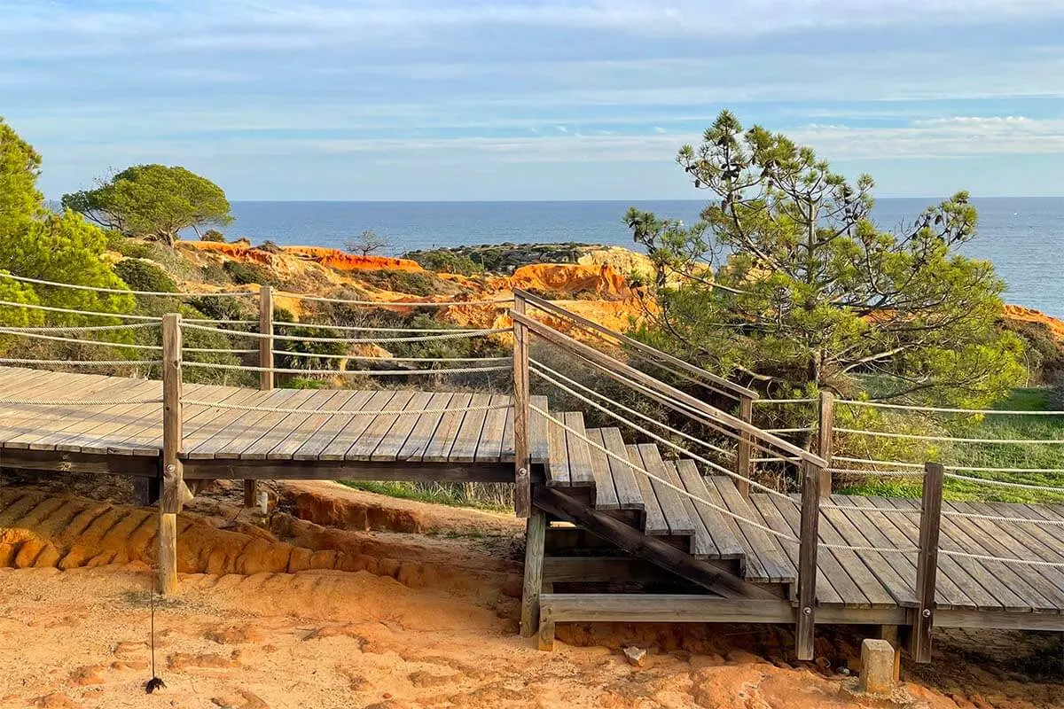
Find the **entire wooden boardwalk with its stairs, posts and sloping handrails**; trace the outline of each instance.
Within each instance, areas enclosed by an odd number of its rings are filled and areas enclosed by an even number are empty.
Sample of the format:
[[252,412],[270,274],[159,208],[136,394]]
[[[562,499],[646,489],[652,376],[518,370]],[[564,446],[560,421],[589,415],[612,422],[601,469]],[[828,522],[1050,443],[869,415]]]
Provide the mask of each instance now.
[[[522,632],[538,628],[543,646],[556,622],[794,623],[797,655],[809,659],[814,625],[839,623],[911,627],[914,657],[927,661],[933,626],[1064,631],[1064,505],[942,502],[935,463],[917,473],[922,501],[830,495],[826,459],[752,425],[755,392],[529,293],[511,311],[513,395],[275,389],[265,290],[260,389],[183,384],[176,315],[162,321],[162,382],[0,367],[0,468],[147,478],[139,489],[155,486],[160,500],[164,592],[177,589],[185,480],[243,479],[247,505],[255,479],[509,483],[529,518]],[[569,317],[681,378],[706,377],[696,382],[739,413],[530,319],[526,306]],[[565,376],[535,360],[530,369],[532,335],[730,436],[734,451],[695,439],[730,468],[624,417],[597,427],[585,412],[551,411],[530,395],[530,374],[555,387],[551,376]],[[755,449],[793,465],[801,493],[759,490]]]

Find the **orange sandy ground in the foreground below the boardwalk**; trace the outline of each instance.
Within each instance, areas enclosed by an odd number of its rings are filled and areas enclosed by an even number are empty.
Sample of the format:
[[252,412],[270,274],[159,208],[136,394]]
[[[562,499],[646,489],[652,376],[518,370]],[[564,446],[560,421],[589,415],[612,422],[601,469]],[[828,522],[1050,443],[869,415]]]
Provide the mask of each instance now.
[[[841,694],[860,637],[829,628],[816,663],[791,660],[785,627],[563,625],[541,653],[516,635],[519,521],[329,483],[278,484],[267,520],[232,504],[235,486],[194,502],[190,573],[155,608],[167,687],[146,695],[153,510],[116,504],[122,482],[3,482],[0,543],[18,548],[0,569],[0,707],[881,706]],[[89,491],[111,502],[69,496]],[[332,570],[345,559],[361,569]],[[1052,642],[942,636],[905,689],[936,709],[1061,706]],[[649,649],[646,666],[628,644]]]

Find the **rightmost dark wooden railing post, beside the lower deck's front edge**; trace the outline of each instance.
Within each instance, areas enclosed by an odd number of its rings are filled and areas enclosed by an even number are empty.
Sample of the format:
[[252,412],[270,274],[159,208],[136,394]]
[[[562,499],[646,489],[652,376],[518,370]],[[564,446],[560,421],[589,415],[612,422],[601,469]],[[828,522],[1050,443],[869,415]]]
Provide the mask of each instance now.
[[924,500],[920,505],[920,552],[916,562],[916,620],[910,652],[917,662],[931,661],[934,628],[934,591],[938,572],[938,529],[942,526],[941,463],[924,465]]

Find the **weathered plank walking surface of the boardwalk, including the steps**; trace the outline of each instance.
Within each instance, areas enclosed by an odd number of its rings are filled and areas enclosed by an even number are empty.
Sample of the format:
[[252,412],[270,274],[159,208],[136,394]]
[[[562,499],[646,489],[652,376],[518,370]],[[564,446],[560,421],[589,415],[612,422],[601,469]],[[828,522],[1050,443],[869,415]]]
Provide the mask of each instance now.
[[[162,384],[0,368],[0,399],[11,401],[31,394],[33,399],[56,402],[136,402],[161,398]],[[184,463],[184,476],[189,479],[364,475],[514,479],[514,409],[510,396],[409,390],[259,391],[212,385],[186,385],[183,396],[188,402],[204,402],[186,404],[183,411],[184,439],[179,457]],[[544,400],[536,403],[546,407]],[[502,408],[488,408],[496,406]],[[257,410],[262,407],[294,412]],[[62,403],[48,407],[2,404],[0,466],[72,470],[82,465],[89,470],[106,466],[111,472],[156,476],[163,443],[161,408],[159,402],[88,408]],[[619,428],[585,428],[583,416],[577,411],[555,416],[571,431],[542,418],[534,419],[531,425],[532,461],[543,467],[542,474],[533,479],[537,504],[551,510],[556,501],[545,495],[553,491],[586,505],[588,513],[595,510],[622,521],[696,560],[731,561],[745,581],[776,587],[781,598],[794,597],[797,546],[736,520],[752,520],[782,535],[798,536],[797,496],[791,503],[765,493],[745,497],[731,478],[703,476],[694,461],[666,459],[656,445],[627,443]],[[589,446],[585,437],[734,517],[636,474],[633,468]],[[832,495],[830,503],[820,509],[821,544],[915,550],[919,538],[918,501]],[[1064,561],[1062,505],[946,505],[949,511],[985,518],[944,517],[940,546],[946,552]],[[562,519],[564,512],[558,517]],[[1062,524],[1028,525],[992,519],[995,517]],[[547,559],[548,576],[553,563]],[[619,564],[614,563],[617,568]],[[935,602],[940,611],[981,611],[987,625],[999,622],[995,617],[1009,615],[1000,621],[1009,627],[1064,629],[1064,571],[1059,568],[948,555],[940,557],[938,568]],[[850,622],[861,622],[862,610],[916,608],[916,593],[915,554],[827,546],[817,558],[817,605],[850,609]],[[545,597],[549,605],[551,596],[548,593]],[[587,601],[592,597],[588,595]],[[1025,614],[1026,621],[1017,618]],[[938,623],[943,624],[941,614]]]

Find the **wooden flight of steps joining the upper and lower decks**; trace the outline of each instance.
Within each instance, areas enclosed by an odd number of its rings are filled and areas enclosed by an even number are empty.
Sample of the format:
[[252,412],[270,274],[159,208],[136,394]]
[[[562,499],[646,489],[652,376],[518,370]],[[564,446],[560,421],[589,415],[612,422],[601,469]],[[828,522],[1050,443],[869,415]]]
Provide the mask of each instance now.
[[[544,400],[534,404],[547,409]],[[534,417],[542,422],[538,433],[544,441],[539,446],[533,444],[531,452],[533,466],[542,467],[543,477],[533,480],[539,488],[534,491],[537,506],[553,518],[570,522],[655,564],[659,575],[665,569],[701,587],[702,592],[729,596],[757,594],[761,590],[778,598],[792,595],[797,578],[796,559],[785,553],[774,536],[637,473],[588,445],[582,437],[696,497],[764,524],[762,505],[755,506],[752,500],[741,495],[731,477],[703,476],[694,460],[666,458],[653,443],[628,443],[617,427],[586,428],[579,411],[551,416],[572,432]],[[537,440],[535,426],[533,423],[533,441]],[[751,495],[751,499],[766,496]],[[560,502],[565,503],[565,509],[559,507]],[[769,502],[766,509],[775,508]],[[606,519],[621,523],[625,528],[609,526]],[[687,558],[679,568],[676,551]],[[721,586],[721,572],[733,576],[738,584],[731,584],[732,588]]]

